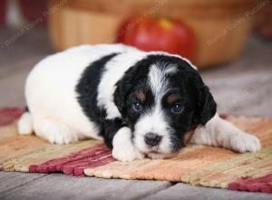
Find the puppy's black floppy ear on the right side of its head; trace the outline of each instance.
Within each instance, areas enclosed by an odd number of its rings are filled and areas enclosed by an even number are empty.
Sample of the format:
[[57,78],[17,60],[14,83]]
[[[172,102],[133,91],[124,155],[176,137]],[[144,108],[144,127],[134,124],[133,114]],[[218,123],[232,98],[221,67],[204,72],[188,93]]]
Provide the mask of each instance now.
[[198,96],[199,124],[205,125],[217,112],[217,104],[209,92],[209,87],[203,85],[199,88]]

